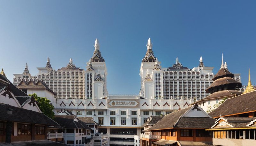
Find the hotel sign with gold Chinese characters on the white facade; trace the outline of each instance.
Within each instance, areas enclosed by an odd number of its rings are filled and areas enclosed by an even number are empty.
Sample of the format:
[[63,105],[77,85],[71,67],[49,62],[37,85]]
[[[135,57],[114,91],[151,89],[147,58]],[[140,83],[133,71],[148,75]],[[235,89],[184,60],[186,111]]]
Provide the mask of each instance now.
[[115,108],[115,107],[130,107],[130,108],[137,108],[139,106],[138,100],[110,100],[108,101],[108,107]]

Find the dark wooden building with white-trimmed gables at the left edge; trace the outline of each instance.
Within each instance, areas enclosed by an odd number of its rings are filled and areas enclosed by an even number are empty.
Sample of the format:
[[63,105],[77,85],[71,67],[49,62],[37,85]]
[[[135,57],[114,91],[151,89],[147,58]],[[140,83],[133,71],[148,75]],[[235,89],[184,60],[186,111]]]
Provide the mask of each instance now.
[[34,97],[0,74],[0,143],[47,139],[48,126],[60,126],[37,106]]

